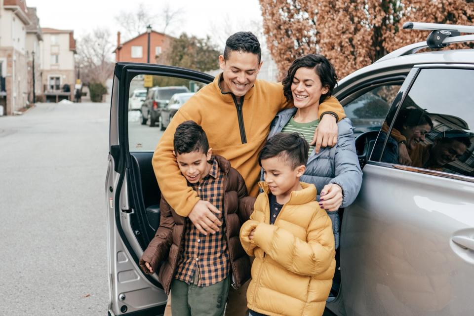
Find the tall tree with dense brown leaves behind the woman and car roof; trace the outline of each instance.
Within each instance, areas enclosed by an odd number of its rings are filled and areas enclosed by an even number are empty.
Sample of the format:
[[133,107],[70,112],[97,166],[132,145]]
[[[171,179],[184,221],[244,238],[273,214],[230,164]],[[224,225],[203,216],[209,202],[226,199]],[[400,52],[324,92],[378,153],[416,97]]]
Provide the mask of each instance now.
[[280,78],[304,54],[325,55],[340,78],[387,53],[426,40],[406,21],[474,22],[473,0],[260,0],[268,48]]

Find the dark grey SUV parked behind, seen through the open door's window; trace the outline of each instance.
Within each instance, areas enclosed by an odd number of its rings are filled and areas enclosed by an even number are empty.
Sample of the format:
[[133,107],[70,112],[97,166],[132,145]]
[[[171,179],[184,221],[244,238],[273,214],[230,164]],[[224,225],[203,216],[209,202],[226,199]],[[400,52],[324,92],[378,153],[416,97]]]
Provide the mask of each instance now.
[[169,98],[175,93],[189,92],[185,86],[153,87],[148,90],[147,98],[141,108],[141,123],[145,125],[150,120],[150,126],[155,126],[161,109],[168,104]]

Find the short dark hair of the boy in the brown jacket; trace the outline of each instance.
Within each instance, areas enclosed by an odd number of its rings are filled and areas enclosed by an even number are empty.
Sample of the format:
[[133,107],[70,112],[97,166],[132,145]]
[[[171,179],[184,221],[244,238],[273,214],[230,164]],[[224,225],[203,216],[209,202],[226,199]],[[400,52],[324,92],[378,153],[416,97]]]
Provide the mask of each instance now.
[[173,139],[174,153],[187,154],[199,151],[207,154],[209,142],[200,125],[195,121],[187,120],[176,127]]

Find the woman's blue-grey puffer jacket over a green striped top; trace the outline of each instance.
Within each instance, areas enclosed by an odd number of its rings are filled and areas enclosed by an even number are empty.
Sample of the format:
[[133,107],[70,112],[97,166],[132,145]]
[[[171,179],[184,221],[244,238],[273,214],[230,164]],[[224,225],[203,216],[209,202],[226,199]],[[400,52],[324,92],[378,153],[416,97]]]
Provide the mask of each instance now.
[[[279,133],[290,118],[293,117],[297,109],[287,109],[279,112],[270,125],[269,138]],[[362,184],[362,170],[356,154],[356,144],[354,140],[354,127],[349,118],[341,119],[337,123],[338,135],[337,145],[334,147],[321,148],[319,154],[314,151],[308,158],[305,174],[301,181],[313,183],[317,190],[317,200],[319,193],[326,184],[335,183],[342,188],[342,205],[349,206],[357,197]],[[263,180],[263,172],[262,172]],[[332,221],[332,230],[336,241],[336,248],[339,247],[340,220],[338,211],[327,211]]]

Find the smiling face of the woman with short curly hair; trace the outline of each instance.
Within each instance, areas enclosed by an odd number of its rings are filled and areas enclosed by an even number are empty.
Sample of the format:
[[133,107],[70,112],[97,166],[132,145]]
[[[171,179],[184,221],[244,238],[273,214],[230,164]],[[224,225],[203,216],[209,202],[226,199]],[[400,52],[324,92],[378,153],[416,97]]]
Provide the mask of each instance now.
[[298,68],[291,83],[293,103],[298,109],[318,106],[319,98],[328,90],[328,87],[322,86],[314,68]]

